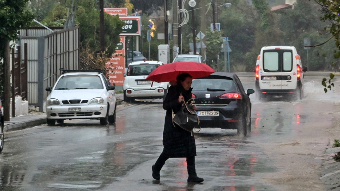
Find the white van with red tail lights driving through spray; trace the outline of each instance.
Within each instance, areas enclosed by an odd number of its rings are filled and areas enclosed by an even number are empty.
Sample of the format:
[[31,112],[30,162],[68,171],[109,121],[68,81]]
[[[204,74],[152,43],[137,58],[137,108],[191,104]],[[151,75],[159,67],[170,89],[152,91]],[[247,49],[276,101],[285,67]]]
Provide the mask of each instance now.
[[255,68],[256,97],[294,95],[303,97],[303,72],[300,55],[291,46],[262,47]]

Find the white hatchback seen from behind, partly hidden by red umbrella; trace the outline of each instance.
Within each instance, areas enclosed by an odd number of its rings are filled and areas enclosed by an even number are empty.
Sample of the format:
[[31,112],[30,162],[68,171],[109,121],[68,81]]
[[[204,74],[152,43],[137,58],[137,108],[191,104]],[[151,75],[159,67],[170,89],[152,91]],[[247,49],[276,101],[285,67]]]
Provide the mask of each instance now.
[[139,61],[130,63],[127,72],[124,73],[124,101],[133,102],[135,99],[154,98],[162,98],[164,100],[169,83],[152,83],[152,81],[145,80],[154,69],[163,64],[161,61]]

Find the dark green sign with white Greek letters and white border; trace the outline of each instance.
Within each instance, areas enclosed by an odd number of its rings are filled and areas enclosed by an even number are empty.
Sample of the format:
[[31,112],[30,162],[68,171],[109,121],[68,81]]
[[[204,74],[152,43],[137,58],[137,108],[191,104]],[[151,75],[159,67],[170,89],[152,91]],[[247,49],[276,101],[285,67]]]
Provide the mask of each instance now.
[[123,32],[120,36],[140,36],[141,32],[141,17],[119,17],[120,20],[125,22],[122,27]]

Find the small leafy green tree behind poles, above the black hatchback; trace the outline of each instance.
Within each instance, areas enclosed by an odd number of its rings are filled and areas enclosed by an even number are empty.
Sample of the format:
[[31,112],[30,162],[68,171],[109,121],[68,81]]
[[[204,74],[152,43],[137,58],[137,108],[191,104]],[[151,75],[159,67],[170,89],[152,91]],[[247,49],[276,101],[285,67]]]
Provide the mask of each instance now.
[[223,39],[220,32],[207,30],[206,33],[206,63],[215,70],[218,70],[217,58],[221,52]]

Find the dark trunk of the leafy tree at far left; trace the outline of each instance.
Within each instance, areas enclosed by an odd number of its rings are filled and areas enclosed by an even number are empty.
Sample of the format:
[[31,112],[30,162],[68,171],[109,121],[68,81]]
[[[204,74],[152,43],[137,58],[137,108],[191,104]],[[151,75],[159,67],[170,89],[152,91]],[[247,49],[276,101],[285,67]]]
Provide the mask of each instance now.
[[[5,43],[4,61],[4,120],[10,121],[10,100],[11,100],[11,63],[10,63],[10,41]],[[13,106],[14,107],[14,106]]]

